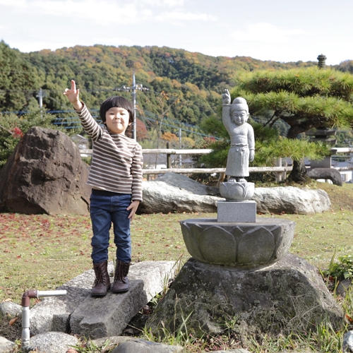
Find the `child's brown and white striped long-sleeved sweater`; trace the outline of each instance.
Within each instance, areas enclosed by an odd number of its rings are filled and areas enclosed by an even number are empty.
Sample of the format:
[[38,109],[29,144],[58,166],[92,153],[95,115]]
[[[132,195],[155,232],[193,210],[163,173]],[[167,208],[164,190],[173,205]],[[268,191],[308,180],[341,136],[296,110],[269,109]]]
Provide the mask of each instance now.
[[92,138],[93,155],[87,184],[114,193],[131,193],[132,201],[142,201],[141,146],[122,133],[111,133],[92,118],[83,102],[76,111],[85,132]]

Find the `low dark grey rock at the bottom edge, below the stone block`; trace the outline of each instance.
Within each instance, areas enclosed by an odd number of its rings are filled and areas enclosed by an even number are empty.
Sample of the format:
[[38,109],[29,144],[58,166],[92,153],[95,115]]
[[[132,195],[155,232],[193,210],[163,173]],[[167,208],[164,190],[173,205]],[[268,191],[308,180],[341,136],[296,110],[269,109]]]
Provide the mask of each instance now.
[[134,339],[123,342],[113,349],[112,353],[175,353],[184,352],[183,347],[162,345],[146,340]]

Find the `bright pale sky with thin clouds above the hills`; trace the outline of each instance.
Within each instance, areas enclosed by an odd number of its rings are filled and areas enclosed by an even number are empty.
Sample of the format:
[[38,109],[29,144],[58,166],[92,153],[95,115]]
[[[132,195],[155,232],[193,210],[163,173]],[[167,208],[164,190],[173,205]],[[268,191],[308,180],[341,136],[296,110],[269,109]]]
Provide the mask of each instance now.
[[21,52],[157,45],[272,61],[353,60],[352,0],[0,0],[0,39]]

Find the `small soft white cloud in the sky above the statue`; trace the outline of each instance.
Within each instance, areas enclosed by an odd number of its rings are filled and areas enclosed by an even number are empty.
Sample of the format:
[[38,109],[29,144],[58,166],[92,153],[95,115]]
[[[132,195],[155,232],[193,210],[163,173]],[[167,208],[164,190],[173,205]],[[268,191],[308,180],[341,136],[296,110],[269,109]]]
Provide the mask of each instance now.
[[304,30],[289,30],[271,23],[253,23],[245,30],[234,30],[232,37],[242,42],[287,42],[290,37],[304,35]]

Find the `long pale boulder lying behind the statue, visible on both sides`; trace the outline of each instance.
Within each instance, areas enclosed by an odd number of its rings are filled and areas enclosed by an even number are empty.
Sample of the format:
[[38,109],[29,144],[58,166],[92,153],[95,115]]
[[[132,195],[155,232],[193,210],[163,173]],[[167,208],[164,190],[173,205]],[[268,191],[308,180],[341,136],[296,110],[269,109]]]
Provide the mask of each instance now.
[[[205,186],[186,175],[166,173],[154,181],[143,181],[143,202],[138,213],[217,212],[217,201],[224,201],[220,189]],[[292,186],[255,188],[251,198],[261,213],[309,215],[330,210],[330,198],[323,190]]]

